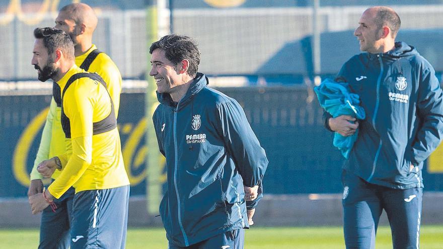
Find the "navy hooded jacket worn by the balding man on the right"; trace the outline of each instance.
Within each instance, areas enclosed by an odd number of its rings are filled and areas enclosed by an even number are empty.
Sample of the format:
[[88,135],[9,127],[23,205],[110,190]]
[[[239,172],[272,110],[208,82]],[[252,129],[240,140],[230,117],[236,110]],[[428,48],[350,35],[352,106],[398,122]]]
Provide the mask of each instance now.
[[397,42],[387,53],[353,56],[336,81],[348,82],[366,112],[344,169],[390,188],[423,187],[423,161],[443,132],[442,91],[429,62]]

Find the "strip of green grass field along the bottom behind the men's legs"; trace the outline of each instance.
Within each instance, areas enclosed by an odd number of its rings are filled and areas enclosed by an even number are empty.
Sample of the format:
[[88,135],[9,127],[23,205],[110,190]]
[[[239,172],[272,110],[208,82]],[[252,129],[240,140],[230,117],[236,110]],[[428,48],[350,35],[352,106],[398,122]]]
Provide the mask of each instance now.
[[[422,226],[420,247],[443,248],[443,226]],[[341,227],[253,227],[246,231],[247,249],[344,248]],[[37,229],[0,229],[0,248],[37,248]],[[162,228],[130,228],[127,249],[167,248]],[[389,227],[380,227],[376,248],[392,248]]]

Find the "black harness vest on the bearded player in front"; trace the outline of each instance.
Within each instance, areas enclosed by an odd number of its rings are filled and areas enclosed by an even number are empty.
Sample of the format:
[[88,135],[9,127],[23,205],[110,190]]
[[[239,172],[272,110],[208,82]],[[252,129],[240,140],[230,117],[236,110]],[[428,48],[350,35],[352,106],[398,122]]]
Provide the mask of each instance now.
[[[76,74],[72,75],[67,80],[66,86],[64,87],[63,93],[61,94],[61,102],[62,103],[63,103],[64,93],[69,88],[69,86],[72,84],[72,82],[76,81],[79,78],[83,78],[83,77],[88,77],[88,78],[94,79],[96,81],[99,81],[105,87],[106,92],[107,92],[108,89],[106,88],[106,83],[102,79],[102,77],[100,77],[100,75],[98,75],[97,73],[80,72],[80,73],[76,73]],[[109,92],[108,92],[108,95],[109,95]],[[93,123],[93,132],[92,132],[93,135],[107,132],[107,131],[113,130],[115,127],[117,127],[117,119],[115,118],[115,112],[114,112],[114,103],[112,102],[110,95],[109,95],[109,99],[111,101],[111,113],[103,120]],[[71,127],[70,127],[70,123],[69,123],[69,118],[66,117],[66,115],[64,114],[63,105],[61,105],[61,127],[63,128],[65,137],[71,138]]]

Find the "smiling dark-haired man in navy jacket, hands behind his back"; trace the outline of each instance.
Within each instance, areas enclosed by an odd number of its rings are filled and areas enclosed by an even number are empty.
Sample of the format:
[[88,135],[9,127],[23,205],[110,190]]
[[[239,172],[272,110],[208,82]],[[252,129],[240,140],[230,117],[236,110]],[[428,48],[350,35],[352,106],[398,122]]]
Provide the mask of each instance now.
[[167,35],[150,53],[160,102],[153,121],[167,165],[160,214],[169,248],[243,248],[243,228],[262,196],[265,151],[239,103],[197,73],[200,53],[191,38]]

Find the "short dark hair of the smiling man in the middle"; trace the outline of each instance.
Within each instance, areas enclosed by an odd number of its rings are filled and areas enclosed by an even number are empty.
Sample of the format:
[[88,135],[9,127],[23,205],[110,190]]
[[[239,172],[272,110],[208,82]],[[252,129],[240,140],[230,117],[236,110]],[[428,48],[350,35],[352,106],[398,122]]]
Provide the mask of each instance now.
[[194,77],[200,64],[200,51],[197,42],[184,35],[170,34],[162,37],[160,40],[151,44],[149,53],[152,54],[156,49],[165,50],[166,58],[174,64],[182,60],[189,61],[188,75]]

